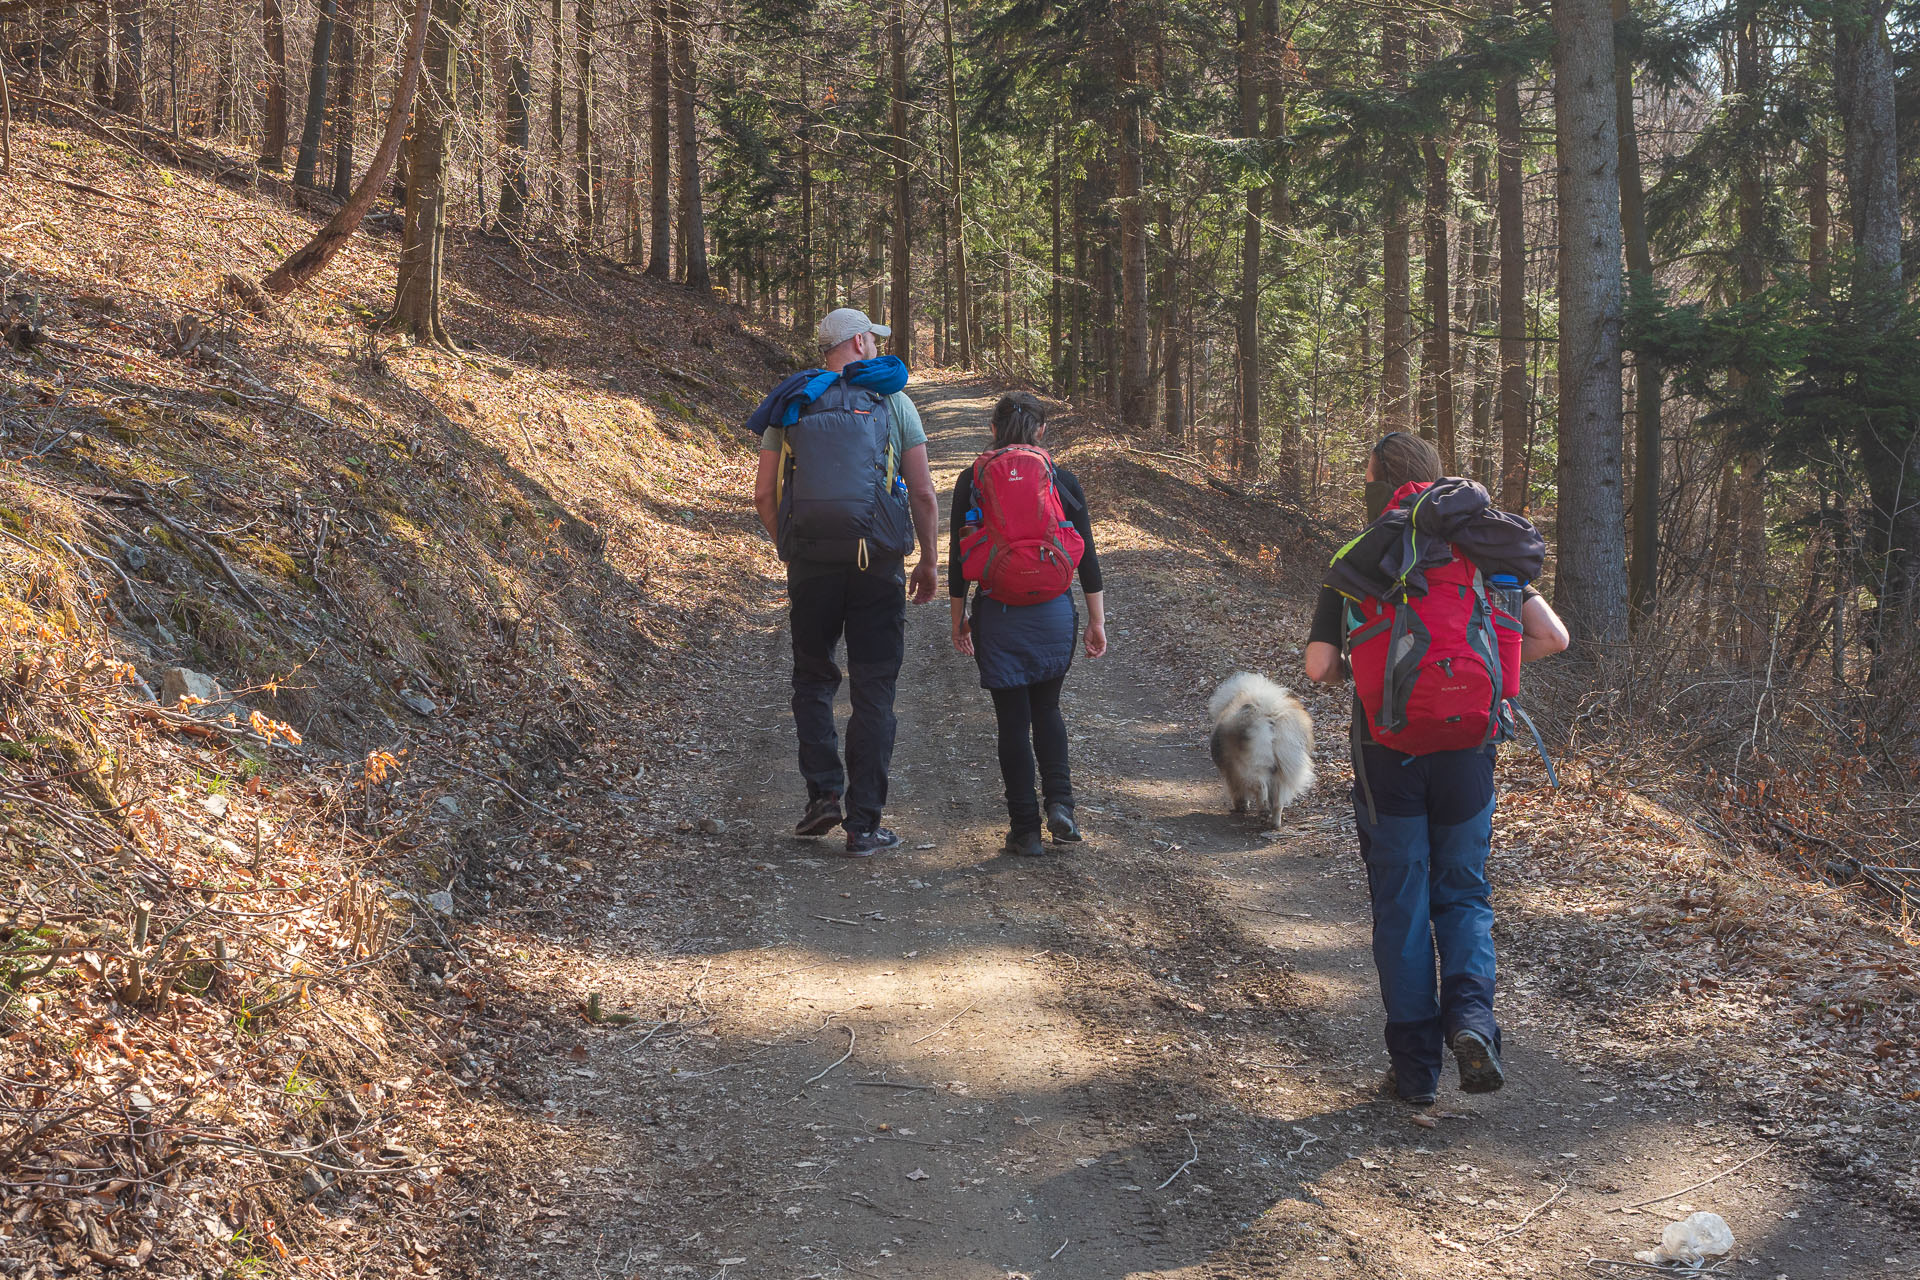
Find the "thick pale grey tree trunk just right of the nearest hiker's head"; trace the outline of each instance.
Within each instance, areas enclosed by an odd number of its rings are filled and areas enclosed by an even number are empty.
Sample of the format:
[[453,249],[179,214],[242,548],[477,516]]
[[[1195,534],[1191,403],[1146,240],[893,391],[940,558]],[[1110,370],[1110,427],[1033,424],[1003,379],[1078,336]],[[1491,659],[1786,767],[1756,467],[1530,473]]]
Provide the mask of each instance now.
[[1626,637],[1620,495],[1620,140],[1607,0],[1553,0],[1559,159],[1559,572],[1582,641]]

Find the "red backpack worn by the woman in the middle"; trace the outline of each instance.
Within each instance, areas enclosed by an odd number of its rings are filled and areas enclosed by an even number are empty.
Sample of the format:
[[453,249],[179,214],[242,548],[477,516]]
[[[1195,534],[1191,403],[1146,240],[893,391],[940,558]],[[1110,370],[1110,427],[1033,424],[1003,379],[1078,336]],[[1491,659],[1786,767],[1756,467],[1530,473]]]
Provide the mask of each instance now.
[[1073,585],[1087,543],[1060,505],[1054,459],[1037,445],[973,459],[973,510],[960,576],[1000,604],[1043,604]]

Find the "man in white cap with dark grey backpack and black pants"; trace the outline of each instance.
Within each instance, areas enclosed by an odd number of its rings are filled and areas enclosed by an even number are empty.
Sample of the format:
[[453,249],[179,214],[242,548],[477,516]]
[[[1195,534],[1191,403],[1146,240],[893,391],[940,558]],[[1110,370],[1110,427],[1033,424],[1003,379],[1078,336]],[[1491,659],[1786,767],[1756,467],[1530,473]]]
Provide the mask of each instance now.
[[[793,725],[806,779],[806,814],[795,835],[826,835],[845,825],[851,858],[900,842],[879,825],[879,816],[897,727],[893,693],[906,654],[906,593],[910,587],[914,603],[925,604],[937,585],[939,505],[927,468],[927,432],[902,390],[906,365],[879,355],[874,342],[889,332],[852,307],[828,313],[816,330],[822,368],[781,382],[747,420],[760,434],[753,503],[787,562]],[[889,420],[885,443],[868,455],[868,441],[879,441],[872,428],[881,411]],[[862,535],[808,535],[804,516],[797,514],[808,501],[803,457],[812,472],[858,476],[828,486],[841,497],[812,505],[856,503],[868,522],[854,530]],[[868,470],[874,493],[862,489]],[[845,497],[849,491],[852,499]],[[906,551],[914,543],[920,560],[908,576]],[[833,651],[843,635],[852,700],[845,768],[833,723],[841,681]]]

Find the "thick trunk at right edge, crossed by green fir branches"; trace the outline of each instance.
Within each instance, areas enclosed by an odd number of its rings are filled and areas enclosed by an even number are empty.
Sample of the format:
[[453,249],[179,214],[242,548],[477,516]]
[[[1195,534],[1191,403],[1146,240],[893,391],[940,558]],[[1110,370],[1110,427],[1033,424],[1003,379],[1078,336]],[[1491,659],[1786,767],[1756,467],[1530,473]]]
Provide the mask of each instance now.
[[[1853,223],[1853,309],[1868,332],[1899,322],[1901,188],[1887,0],[1845,0],[1834,13],[1834,100],[1845,130],[1847,217]],[[1857,432],[1872,507],[1868,549],[1880,557],[1872,679],[1903,668],[1920,597],[1920,447],[1912,409],[1870,415]]]

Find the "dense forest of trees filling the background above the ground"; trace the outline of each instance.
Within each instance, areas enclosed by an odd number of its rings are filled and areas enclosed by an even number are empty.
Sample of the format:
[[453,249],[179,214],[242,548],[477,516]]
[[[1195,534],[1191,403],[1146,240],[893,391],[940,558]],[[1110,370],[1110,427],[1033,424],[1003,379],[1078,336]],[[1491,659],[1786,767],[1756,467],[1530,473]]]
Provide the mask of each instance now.
[[1910,679],[1910,0],[0,0],[0,61],[332,215],[269,294],[392,200],[420,342],[486,234],[864,307],[1331,520],[1417,430],[1588,652]]

